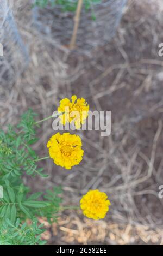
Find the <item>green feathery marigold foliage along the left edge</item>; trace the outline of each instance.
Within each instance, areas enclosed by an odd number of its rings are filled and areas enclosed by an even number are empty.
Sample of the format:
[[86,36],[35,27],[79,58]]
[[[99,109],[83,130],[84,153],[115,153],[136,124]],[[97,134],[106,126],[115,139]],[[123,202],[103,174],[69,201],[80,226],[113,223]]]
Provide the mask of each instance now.
[[[43,230],[34,218],[43,216],[49,222],[56,221],[60,209],[60,187],[32,194],[23,184],[23,175],[47,177],[31,147],[38,140],[35,117],[30,109],[16,127],[9,126],[6,133],[0,130],[0,245],[42,244]],[[27,218],[33,224],[27,225]]]

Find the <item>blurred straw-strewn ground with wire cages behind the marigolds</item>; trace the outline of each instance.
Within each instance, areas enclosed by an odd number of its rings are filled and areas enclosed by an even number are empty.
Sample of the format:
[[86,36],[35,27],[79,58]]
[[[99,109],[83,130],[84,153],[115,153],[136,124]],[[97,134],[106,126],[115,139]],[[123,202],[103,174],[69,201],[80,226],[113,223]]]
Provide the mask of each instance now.
[[[47,228],[43,239],[53,245],[162,244],[163,2],[94,2],[83,5],[70,50],[75,11],[1,0],[1,127],[16,124],[28,108],[41,119],[50,116],[73,94],[92,111],[110,110],[110,136],[77,132],[85,151],[80,165],[65,170],[47,160],[41,163],[47,179],[24,176],[34,192],[61,185],[65,205],[98,188],[111,201],[108,215],[93,221],[66,210],[58,223],[40,219]],[[44,122],[35,145],[40,156],[53,133],[52,121]]]

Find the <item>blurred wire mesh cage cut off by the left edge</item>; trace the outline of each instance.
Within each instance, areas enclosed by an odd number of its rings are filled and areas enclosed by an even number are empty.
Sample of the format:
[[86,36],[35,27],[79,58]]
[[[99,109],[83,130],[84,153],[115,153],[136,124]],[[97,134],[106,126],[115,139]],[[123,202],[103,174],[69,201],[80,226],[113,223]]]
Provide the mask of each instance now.
[[12,13],[12,0],[0,2],[0,85],[12,84],[26,68],[29,57]]

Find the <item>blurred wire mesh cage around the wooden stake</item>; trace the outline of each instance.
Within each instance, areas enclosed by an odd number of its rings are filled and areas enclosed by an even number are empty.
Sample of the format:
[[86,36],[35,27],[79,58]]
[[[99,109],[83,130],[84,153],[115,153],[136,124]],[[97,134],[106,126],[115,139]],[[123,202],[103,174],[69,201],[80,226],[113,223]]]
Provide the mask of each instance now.
[[[85,10],[83,4],[76,49],[89,53],[93,47],[108,43],[120,23],[126,2],[127,0],[102,0],[91,4],[89,10]],[[51,36],[58,46],[67,46],[70,43],[74,15],[74,12],[63,11],[60,5],[46,8],[35,7],[33,10],[34,23],[37,28],[41,33]]]

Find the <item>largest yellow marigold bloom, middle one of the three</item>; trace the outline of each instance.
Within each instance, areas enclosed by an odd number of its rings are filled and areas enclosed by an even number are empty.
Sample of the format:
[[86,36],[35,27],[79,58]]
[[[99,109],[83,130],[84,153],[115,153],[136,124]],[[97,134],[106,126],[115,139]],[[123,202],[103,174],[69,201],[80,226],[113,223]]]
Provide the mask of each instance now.
[[70,133],[54,134],[47,143],[49,156],[54,163],[66,169],[71,169],[82,161],[83,153],[82,140],[78,135]]

